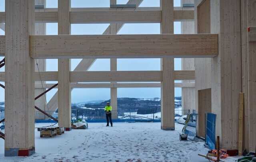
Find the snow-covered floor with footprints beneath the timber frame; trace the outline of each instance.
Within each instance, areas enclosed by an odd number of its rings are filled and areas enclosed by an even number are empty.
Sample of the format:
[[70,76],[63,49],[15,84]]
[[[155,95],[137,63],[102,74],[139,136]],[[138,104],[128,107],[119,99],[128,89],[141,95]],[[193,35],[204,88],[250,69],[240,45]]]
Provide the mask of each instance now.
[[[49,123],[36,124],[36,127]],[[89,123],[89,129],[72,130],[52,138],[40,138],[35,130],[36,153],[30,157],[4,157],[0,162],[208,162],[204,142],[179,141],[183,125],[163,131],[160,123]]]

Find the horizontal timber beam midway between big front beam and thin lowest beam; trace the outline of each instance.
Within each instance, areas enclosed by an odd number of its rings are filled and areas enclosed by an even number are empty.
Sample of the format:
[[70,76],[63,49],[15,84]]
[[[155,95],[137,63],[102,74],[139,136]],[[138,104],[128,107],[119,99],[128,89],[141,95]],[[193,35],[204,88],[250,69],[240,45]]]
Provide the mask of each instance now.
[[[194,70],[175,70],[174,80],[194,80]],[[58,72],[35,72],[35,81],[58,81]],[[161,82],[162,71],[71,71],[70,82]],[[4,82],[4,72],[0,72]]]

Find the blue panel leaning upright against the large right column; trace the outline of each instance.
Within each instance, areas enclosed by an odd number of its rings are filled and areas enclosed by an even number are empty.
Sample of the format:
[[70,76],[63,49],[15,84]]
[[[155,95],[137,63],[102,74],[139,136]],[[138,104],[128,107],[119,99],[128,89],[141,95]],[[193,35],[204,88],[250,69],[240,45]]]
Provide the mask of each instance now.
[[207,113],[206,118],[206,144],[213,150],[215,149],[215,133],[216,133],[216,114]]

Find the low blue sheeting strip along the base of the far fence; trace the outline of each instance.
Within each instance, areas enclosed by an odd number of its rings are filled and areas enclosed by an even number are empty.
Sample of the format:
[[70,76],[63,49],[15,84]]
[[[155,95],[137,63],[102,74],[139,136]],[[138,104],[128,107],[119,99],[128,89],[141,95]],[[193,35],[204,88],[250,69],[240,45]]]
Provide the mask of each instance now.
[[[115,122],[161,122],[160,119],[112,119]],[[54,120],[35,120],[36,123],[56,123]],[[106,119],[86,120],[87,123],[106,123]]]

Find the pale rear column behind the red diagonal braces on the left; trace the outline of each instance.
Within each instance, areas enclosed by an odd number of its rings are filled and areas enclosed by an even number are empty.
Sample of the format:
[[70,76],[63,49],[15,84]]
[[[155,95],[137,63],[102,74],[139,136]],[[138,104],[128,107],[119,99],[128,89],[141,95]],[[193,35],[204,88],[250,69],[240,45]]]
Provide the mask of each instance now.
[[[35,4],[36,5],[44,5],[44,8],[46,6],[46,0],[35,0]],[[42,9],[37,9],[41,12],[44,12],[44,8]],[[46,23],[35,23],[35,35],[46,35]],[[38,63],[38,67],[36,65],[36,62]],[[46,71],[46,59],[36,59],[35,60],[35,71],[39,71],[43,72]],[[45,82],[42,81],[42,83],[44,84]],[[41,82],[35,82],[35,84],[40,84]],[[38,96],[39,94],[41,94],[42,92],[44,92],[46,90],[46,88],[35,88],[35,97]],[[46,107],[46,100],[45,97],[42,96],[40,98],[38,98],[35,101],[35,105],[37,107],[39,107],[40,109],[43,109],[44,111],[48,111],[47,109],[45,109]],[[36,111],[36,113],[39,111]],[[39,115],[40,114],[40,115]],[[36,119],[45,119],[45,115],[42,113],[38,113],[36,115]]]

